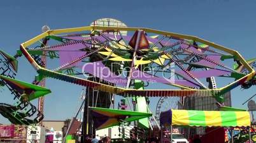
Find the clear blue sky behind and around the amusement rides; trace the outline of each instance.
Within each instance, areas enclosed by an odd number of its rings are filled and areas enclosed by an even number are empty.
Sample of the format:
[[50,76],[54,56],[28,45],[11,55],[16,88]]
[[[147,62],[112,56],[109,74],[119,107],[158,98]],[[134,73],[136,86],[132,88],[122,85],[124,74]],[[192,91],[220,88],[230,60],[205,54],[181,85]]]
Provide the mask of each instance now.
[[[89,25],[99,18],[115,18],[129,27],[148,27],[180,34],[195,35],[239,51],[244,58],[256,58],[256,1],[177,0],[177,1],[1,1],[0,49],[14,55],[19,45],[50,28]],[[24,58],[19,58],[20,80],[32,82],[36,71]],[[45,99],[45,119],[65,120],[75,115],[82,87],[47,79],[52,94]],[[0,89],[0,103],[13,97]],[[256,87],[232,90],[232,106],[247,108],[242,103],[256,93]],[[157,100],[151,108],[155,110]],[[0,123],[8,123],[0,116]]]

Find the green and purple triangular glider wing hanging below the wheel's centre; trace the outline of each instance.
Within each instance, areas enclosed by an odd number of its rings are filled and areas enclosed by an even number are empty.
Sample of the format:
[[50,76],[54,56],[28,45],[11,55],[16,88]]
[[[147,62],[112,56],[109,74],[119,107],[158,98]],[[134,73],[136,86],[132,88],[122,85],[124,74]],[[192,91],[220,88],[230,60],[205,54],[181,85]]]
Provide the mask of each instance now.
[[97,130],[119,125],[122,121],[130,122],[152,116],[151,113],[125,111],[120,109],[92,107],[89,107],[89,109],[94,121],[94,126]]

